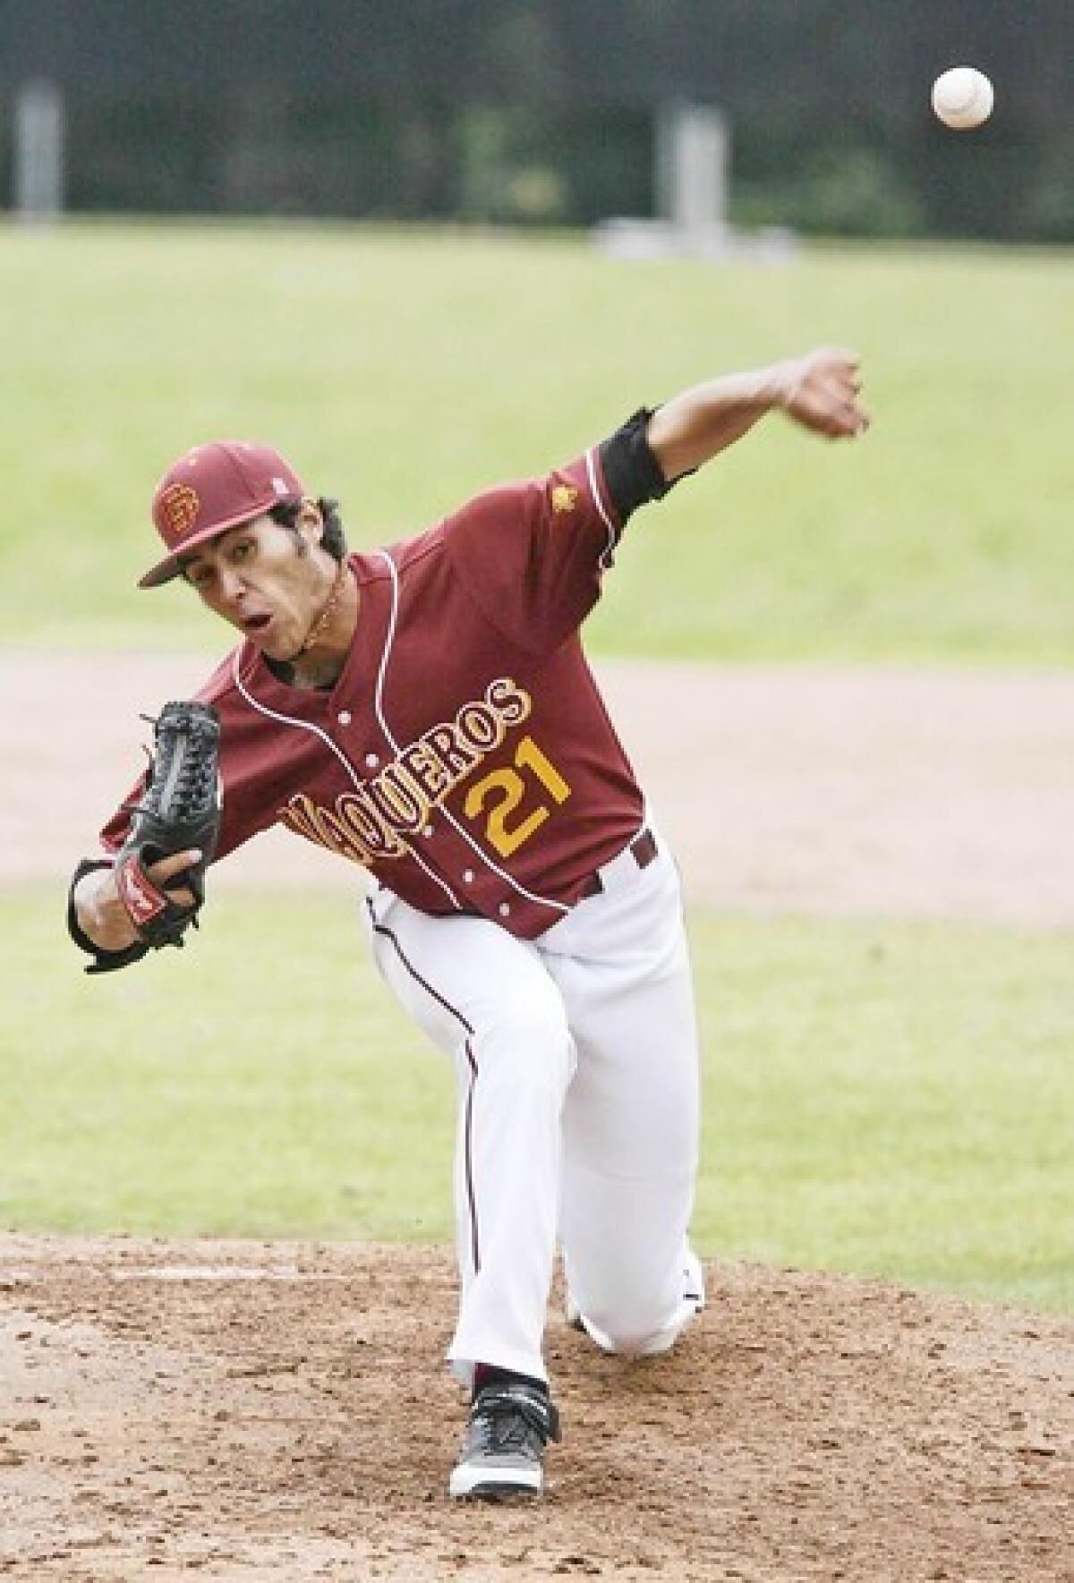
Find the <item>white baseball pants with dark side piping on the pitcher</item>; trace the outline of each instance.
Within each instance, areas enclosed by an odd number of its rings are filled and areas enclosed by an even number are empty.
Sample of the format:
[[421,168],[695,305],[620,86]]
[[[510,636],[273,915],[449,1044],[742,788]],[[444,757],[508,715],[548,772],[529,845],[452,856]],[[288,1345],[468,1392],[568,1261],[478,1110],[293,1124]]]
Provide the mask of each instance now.
[[455,1061],[461,1301],[448,1360],[547,1379],[558,1239],[599,1346],[672,1346],[697,1175],[699,1056],[675,863],[600,871],[604,891],[537,940],[431,918],[390,890],[366,902],[377,966]]

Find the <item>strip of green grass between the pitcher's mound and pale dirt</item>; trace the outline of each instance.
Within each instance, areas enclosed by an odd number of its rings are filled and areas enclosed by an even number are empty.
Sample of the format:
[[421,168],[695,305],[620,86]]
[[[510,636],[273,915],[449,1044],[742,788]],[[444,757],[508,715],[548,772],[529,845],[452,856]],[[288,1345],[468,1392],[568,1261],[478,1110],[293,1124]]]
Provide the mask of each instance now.
[[[97,981],[55,912],[0,896],[0,1225],[450,1238],[448,1064],[345,898],[222,893],[192,951]],[[692,943],[706,1255],[1074,1309],[1069,937],[697,917]]]

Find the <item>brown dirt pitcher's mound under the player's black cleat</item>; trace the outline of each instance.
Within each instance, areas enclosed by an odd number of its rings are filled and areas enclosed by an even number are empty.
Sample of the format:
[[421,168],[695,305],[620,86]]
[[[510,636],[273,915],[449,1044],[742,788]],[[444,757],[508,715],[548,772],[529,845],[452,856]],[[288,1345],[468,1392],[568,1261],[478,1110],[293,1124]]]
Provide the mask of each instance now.
[[548,1498],[456,1507],[445,1252],[0,1238],[0,1574],[1074,1577],[1074,1325],[708,1279],[643,1365],[556,1309]]

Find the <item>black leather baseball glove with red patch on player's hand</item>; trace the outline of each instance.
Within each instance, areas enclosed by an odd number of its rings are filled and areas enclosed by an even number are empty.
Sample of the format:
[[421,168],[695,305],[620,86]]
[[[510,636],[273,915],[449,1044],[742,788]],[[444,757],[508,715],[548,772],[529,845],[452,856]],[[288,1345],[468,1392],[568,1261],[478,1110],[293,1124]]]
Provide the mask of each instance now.
[[[220,836],[220,720],[212,704],[166,703],[150,723],[154,752],[116,856],[116,886],[138,939],[160,950],[184,943],[204,902],[204,871]],[[154,885],[146,869],[189,847],[198,847],[201,858],[168,882],[192,893],[184,905]]]

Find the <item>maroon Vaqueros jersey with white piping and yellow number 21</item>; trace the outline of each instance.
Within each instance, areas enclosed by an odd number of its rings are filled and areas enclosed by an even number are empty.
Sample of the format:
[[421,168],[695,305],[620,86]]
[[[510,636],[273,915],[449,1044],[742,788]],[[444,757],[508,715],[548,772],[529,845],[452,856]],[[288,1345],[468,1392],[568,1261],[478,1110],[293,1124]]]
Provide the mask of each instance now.
[[621,526],[594,448],[352,556],[358,624],[331,690],[238,647],[198,693],[222,727],[217,858],[284,825],[423,912],[527,939],[556,923],[643,823],[578,638]]

